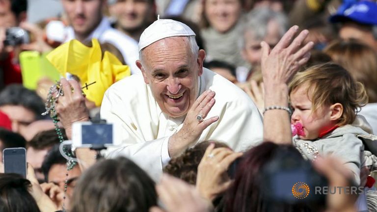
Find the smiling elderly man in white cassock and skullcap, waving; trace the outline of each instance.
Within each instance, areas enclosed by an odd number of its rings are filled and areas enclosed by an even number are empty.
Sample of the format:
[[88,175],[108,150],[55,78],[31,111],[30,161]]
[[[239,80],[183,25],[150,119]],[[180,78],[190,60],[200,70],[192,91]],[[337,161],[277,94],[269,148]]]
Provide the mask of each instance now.
[[[101,118],[122,129],[123,145],[109,157],[133,159],[158,179],[170,158],[198,142],[217,140],[244,151],[262,141],[257,107],[232,82],[203,68],[205,51],[188,26],[159,19],[141,34],[138,50],[141,73],[111,85],[102,101]],[[69,97],[59,97],[56,107],[69,136],[71,123],[87,118],[82,103],[64,108],[60,98]]]

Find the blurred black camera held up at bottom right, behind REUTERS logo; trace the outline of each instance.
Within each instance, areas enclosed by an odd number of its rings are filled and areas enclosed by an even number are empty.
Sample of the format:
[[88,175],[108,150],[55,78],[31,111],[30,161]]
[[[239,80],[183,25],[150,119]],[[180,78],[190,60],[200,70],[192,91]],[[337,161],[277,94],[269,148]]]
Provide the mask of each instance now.
[[327,179],[314,170],[310,161],[298,151],[280,148],[262,169],[261,191],[265,199],[276,204],[323,206],[326,196],[316,192],[328,185]]

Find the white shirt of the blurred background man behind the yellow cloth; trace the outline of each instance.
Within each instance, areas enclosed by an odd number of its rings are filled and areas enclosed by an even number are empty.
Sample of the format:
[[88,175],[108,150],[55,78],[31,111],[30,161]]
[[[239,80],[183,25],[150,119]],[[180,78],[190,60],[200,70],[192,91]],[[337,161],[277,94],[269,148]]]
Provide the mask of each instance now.
[[[114,45],[120,53],[127,65],[131,68],[131,74],[139,73],[135,62],[139,58],[137,51],[137,41],[130,36],[112,28],[108,18],[104,17],[98,27],[85,39],[90,43],[92,38],[97,38],[100,43],[110,43]],[[65,42],[75,39],[75,31],[73,27],[67,27],[67,39]]]

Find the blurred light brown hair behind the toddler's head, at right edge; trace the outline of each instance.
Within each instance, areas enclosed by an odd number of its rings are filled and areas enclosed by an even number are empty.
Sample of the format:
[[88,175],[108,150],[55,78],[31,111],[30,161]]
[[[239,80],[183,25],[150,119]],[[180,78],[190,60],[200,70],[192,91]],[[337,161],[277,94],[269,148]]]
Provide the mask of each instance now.
[[364,84],[369,103],[377,102],[377,53],[373,48],[357,40],[338,40],[329,44],[324,52]]

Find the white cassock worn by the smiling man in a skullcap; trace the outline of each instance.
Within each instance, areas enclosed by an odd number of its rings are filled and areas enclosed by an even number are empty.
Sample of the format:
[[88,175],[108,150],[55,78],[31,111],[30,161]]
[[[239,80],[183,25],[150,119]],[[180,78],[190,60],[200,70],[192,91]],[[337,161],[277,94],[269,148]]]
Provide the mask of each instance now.
[[[198,142],[221,141],[235,151],[260,143],[262,117],[253,101],[232,82],[203,69],[200,92],[211,89],[216,93],[215,105],[207,118],[219,116],[219,119],[203,131]],[[112,151],[109,157],[128,157],[158,179],[170,159],[169,137],[182,128],[184,118],[172,118],[162,112],[141,74],[122,79],[108,88],[101,118],[122,125],[124,145]]]

